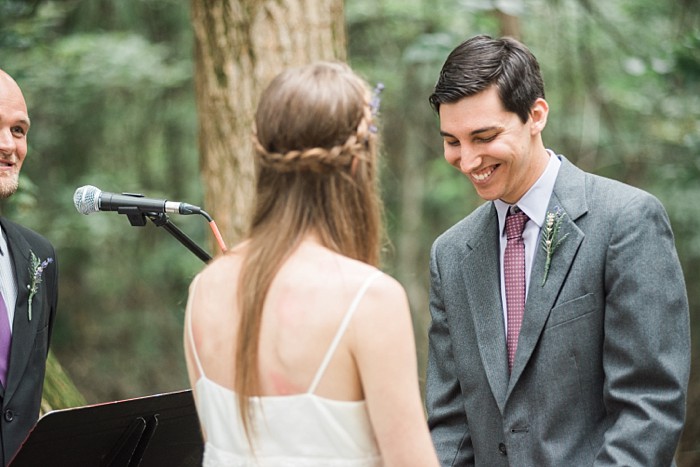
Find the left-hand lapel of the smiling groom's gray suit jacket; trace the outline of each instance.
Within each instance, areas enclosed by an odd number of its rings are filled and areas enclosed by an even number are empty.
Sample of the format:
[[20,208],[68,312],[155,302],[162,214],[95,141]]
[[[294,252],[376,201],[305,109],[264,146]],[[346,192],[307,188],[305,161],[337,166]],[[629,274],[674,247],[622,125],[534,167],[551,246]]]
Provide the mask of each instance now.
[[498,216],[493,203],[482,209],[480,216],[473,235],[467,239],[471,251],[462,272],[481,360],[502,412],[508,387],[508,360],[501,304]]

